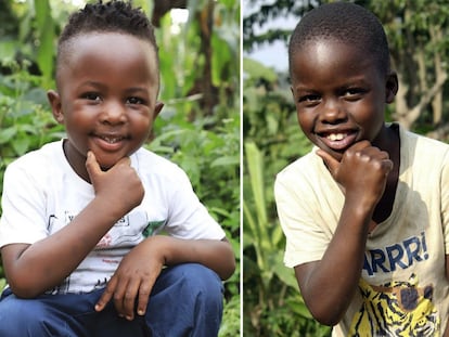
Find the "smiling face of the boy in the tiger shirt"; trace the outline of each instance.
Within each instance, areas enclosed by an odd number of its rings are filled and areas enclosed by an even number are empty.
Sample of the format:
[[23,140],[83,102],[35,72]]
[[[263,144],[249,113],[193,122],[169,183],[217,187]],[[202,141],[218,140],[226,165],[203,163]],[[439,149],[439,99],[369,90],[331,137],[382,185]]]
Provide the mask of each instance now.
[[298,122],[313,144],[341,160],[356,142],[382,141],[385,104],[397,82],[381,74],[370,54],[322,39],[303,46],[291,66]]

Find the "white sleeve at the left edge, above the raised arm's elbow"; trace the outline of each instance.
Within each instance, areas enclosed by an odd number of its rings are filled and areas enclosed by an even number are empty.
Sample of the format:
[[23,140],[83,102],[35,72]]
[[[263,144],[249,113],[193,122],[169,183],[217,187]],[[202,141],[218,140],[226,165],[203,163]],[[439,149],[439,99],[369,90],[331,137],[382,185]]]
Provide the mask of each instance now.
[[47,237],[44,210],[44,192],[39,183],[24,165],[11,164],[3,178],[0,247]]

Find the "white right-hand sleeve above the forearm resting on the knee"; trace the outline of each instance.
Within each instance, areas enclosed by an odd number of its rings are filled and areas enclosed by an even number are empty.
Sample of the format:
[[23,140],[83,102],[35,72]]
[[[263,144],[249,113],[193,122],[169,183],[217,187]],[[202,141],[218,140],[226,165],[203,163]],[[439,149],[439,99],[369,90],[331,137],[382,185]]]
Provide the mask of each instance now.
[[175,237],[185,239],[224,238],[224,231],[200,202],[182,169],[179,169],[176,183],[177,186],[169,200],[167,232]]

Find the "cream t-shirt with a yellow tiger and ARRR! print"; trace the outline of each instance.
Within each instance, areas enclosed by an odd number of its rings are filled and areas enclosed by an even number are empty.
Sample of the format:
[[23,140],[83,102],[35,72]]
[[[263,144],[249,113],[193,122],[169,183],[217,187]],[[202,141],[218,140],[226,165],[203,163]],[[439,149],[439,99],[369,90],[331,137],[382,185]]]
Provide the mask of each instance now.
[[[399,135],[393,210],[369,234],[359,291],[333,336],[434,337],[448,320],[449,145],[401,128]],[[281,171],[274,185],[291,268],[322,258],[345,200],[315,151]]]

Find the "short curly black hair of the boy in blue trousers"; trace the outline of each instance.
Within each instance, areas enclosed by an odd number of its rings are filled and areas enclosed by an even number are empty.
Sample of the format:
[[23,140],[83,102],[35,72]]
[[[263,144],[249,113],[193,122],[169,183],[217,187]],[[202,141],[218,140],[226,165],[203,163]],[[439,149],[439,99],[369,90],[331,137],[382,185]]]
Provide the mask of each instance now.
[[156,53],[158,68],[157,43],[153,26],[141,9],[133,8],[130,1],[112,0],[103,3],[89,3],[73,13],[57,42],[56,65],[67,42],[73,38],[89,33],[123,33],[150,42]]

